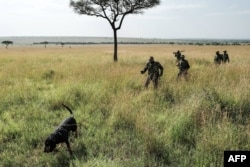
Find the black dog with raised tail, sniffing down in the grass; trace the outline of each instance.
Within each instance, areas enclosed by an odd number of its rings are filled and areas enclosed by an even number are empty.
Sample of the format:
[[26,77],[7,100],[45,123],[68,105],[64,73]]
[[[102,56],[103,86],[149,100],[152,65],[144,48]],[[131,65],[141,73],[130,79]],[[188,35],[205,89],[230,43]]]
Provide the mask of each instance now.
[[69,145],[69,133],[70,131],[75,132],[75,136],[77,137],[77,123],[73,116],[73,112],[71,109],[62,104],[67,110],[69,110],[71,116],[65,119],[59,127],[55,130],[54,133],[50,134],[50,136],[45,141],[44,152],[49,153],[52,152],[56,148],[56,144],[66,143],[70,154],[72,155],[72,150]]

